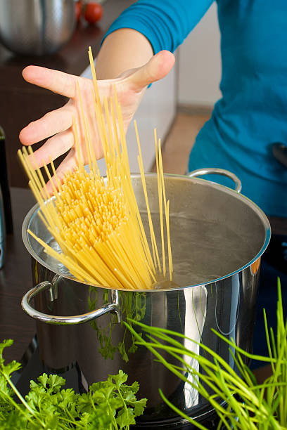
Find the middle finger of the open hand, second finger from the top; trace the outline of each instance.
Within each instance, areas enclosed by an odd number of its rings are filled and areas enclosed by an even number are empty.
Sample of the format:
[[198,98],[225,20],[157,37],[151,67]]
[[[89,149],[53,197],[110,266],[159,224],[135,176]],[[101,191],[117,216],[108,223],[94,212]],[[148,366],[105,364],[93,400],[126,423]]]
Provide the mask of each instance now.
[[72,107],[65,105],[57,110],[46,113],[37,121],[30,122],[20,131],[19,138],[23,145],[32,145],[56,133],[65,131],[72,126]]

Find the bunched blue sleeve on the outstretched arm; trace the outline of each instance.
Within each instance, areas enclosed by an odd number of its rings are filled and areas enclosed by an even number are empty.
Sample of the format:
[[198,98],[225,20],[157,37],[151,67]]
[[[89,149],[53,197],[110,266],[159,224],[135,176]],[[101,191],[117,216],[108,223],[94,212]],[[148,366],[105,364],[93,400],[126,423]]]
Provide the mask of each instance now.
[[[153,52],[175,51],[200,21],[214,0],[139,0],[110,26],[137,30],[150,41]],[[104,37],[104,39],[105,39]]]

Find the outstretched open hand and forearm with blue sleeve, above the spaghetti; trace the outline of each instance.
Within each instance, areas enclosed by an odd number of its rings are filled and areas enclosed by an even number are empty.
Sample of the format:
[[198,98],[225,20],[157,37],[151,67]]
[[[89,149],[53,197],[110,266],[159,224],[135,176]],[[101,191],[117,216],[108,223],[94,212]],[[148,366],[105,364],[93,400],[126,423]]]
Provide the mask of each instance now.
[[[188,32],[188,27],[192,24],[189,22],[189,18],[193,17],[195,25],[198,13],[202,16],[212,3],[212,0],[193,1],[195,1],[197,10],[194,17],[191,13],[191,9],[194,8],[191,8],[190,0],[177,2],[174,0],[158,0],[157,2],[140,0],[120,15],[110,27],[96,60],[96,72],[98,79],[101,79],[98,87],[103,98],[109,96],[111,88],[115,85],[122,107],[125,130],[127,130],[148,84],[165,77],[174,65],[172,53],[160,51],[160,49],[170,48],[172,51]],[[167,14],[166,6],[169,6],[169,14]],[[144,8],[144,10],[139,10],[139,8]],[[189,15],[185,14],[186,11],[189,11]],[[127,19],[130,22],[129,25]],[[179,36],[177,36],[177,32],[180,33]],[[157,55],[153,56],[153,53],[156,52],[158,52]],[[50,158],[56,159],[70,149],[67,157],[57,169],[58,176],[61,178],[65,171],[75,168],[77,164],[71,128],[72,118],[79,117],[77,83],[79,83],[84,99],[84,110],[89,115],[94,110],[91,81],[35,66],[26,67],[23,70],[23,77],[27,82],[70,98],[65,106],[28,124],[19,136],[23,145],[32,145],[47,138],[46,143],[34,152],[39,166],[49,163]],[[103,152],[96,133],[96,124],[92,126],[91,134],[96,157],[101,158]],[[84,135],[80,135],[79,139],[84,148]]]

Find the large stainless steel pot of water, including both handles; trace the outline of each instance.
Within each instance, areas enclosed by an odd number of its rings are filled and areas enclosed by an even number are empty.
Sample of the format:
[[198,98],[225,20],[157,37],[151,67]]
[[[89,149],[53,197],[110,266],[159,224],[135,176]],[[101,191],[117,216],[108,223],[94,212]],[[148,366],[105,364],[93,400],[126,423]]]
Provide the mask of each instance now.
[[[202,341],[232,366],[227,344],[211,328],[236,339],[241,348],[252,349],[260,256],[269,243],[270,226],[263,212],[238,193],[241,184],[236,176],[214,169],[196,171],[191,176],[210,173],[230,176],[236,181],[236,190],[201,178],[165,175],[171,204],[174,282],[179,285],[172,289],[116,291],[77,282],[27,234],[30,228],[57,247],[37,216],[38,205],[23,223],[23,240],[32,256],[36,285],[23,297],[23,309],[37,319],[44,363],[60,369],[77,362],[87,384],[119,369],[127,372],[130,382],[139,382],[139,394],[148,398],[148,408],[138,426],[153,428],[178,422],[179,417],[161,400],[158,388],[187,415],[198,419],[211,406],[156,363],[144,347],[136,348],[122,321],[133,318],[185,334]],[[141,178],[133,175],[132,181],[145,219]],[[156,175],[147,174],[146,181],[156,229]],[[33,297],[34,308],[30,305]],[[184,343],[201,353],[192,342]],[[193,366],[198,367],[198,363]]]

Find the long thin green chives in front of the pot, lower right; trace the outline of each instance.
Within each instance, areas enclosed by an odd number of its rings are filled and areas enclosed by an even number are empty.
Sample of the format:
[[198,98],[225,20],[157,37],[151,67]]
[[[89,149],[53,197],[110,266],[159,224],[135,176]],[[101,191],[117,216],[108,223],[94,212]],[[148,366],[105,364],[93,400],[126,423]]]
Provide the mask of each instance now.
[[[222,334],[212,330],[217,336],[226,341],[229,351],[234,358],[234,362],[240,374],[235,372],[226,361],[224,361],[215,351],[204,344],[184,337],[184,335],[171,330],[159,327],[149,327],[142,323],[132,321],[133,325],[139,325],[143,332],[146,332],[146,341],[139,337],[132,325],[127,325],[129,330],[136,337],[136,344],[144,345],[148,348],[165,367],[177,375],[179,379],[196,389],[201,396],[206,398],[216,410],[220,417],[218,429],[242,429],[242,430],[283,430],[287,429],[287,320],[283,318],[283,306],[281,298],[281,287],[278,282],[278,303],[277,303],[277,332],[276,337],[272,328],[267,326],[266,313],[264,311],[265,331],[269,356],[255,356],[243,351],[236,346],[234,339],[227,339]],[[193,353],[185,348],[180,341],[189,339],[194,344],[199,345],[210,359],[203,355]],[[160,351],[165,351],[172,357],[172,363],[162,357]],[[199,364],[199,370],[194,369],[183,357],[190,357]],[[261,360],[262,363],[269,363],[272,366],[272,376],[265,380],[264,384],[257,384],[254,374],[245,365],[243,358],[248,357],[254,360]],[[174,358],[178,360],[174,364]],[[189,377],[186,377],[189,374]],[[213,394],[210,395],[210,391]],[[207,430],[205,426],[196,422],[191,417],[184,415],[165,398],[160,390],[163,400],[170,405],[177,414],[188,419],[198,429]],[[226,403],[227,408],[222,404]]]

